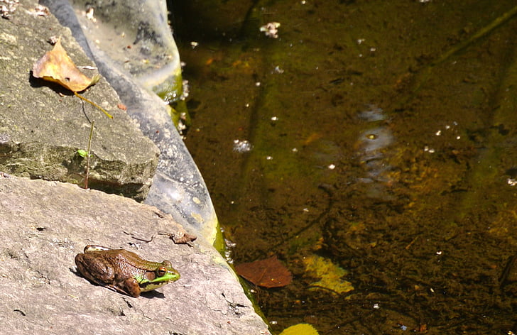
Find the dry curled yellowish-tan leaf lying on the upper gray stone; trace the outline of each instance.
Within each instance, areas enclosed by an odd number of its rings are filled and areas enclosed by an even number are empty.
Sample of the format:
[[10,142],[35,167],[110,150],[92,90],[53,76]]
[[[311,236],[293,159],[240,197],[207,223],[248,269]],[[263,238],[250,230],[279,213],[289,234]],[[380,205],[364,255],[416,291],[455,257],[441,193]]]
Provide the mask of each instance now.
[[99,81],[100,75],[93,78],[87,77],[75,66],[72,59],[61,46],[61,38],[55,43],[54,48],[33,65],[33,76],[57,82],[72,92],[81,92],[90,85]]

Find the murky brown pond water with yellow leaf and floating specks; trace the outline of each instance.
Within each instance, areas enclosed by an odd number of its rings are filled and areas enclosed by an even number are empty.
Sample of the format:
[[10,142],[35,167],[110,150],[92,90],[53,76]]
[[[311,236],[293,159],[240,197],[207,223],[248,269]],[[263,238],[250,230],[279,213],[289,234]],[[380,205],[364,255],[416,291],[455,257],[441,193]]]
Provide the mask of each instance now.
[[232,258],[295,276],[256,290],[274,331],[517,333],[515,6],[174,1]]

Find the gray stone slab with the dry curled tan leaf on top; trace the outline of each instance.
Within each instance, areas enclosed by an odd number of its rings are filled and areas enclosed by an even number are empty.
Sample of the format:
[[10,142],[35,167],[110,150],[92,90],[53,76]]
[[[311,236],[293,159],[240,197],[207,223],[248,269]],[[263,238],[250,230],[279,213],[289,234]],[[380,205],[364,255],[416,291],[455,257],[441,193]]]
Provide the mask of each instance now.
[[[45,180],[80,182],[89,121],[95,121],[89,186],[144,199],[158,164],[158,148],[117,108],[116,92],[101,79],[82,93],[114,119],[62,89],[31,77],[34,62],[62,36],[76,65],[93,65],[70,30],[51,16],[36,15],[36,1],[24,1],[9,20],[0,20],[0,169]],[[89,77],[94,71],[83,70]],[[89,71],[89,72],[87,72]]]

